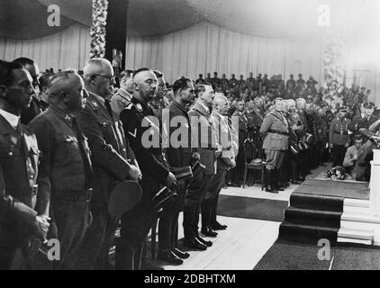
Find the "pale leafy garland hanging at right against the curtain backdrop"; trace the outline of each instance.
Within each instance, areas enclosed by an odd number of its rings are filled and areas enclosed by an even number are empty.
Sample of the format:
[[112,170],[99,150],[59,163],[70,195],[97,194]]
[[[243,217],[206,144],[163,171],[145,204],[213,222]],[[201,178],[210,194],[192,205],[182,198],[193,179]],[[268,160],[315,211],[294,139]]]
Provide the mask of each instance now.
[[323,49],[323,74],[327,85],[343,84],[346,45],[339,35],[330,32]]

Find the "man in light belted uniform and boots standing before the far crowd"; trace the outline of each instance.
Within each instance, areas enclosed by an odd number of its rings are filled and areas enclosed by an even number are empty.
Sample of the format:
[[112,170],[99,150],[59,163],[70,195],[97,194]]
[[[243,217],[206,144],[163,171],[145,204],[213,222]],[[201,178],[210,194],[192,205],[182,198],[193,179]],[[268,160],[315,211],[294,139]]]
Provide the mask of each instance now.
[[283,190],[278,185],[276,171],[283,165],[285,151],[289,145],[289,124],[283,114],[283,99],[275,99],[275,110],[264,118],[260,134],[264,139],[263,148],[267,156],[266,191],[278,193]]

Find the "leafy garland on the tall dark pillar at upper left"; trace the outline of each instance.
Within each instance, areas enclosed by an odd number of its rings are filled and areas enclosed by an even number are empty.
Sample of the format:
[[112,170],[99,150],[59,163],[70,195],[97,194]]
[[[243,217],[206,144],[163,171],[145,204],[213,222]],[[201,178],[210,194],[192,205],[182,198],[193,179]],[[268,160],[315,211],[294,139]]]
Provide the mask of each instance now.
[[107,11],[108,0],[93,0],[93,23],[90,29],[90,58],[104,58]]

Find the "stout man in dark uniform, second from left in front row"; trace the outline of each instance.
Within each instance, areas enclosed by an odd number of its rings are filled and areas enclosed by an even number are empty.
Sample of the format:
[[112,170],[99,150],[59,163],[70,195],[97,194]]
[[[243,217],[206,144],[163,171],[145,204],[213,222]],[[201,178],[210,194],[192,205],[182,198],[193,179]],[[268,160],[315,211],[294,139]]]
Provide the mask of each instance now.
[[75,117],[85,105],[82,78],[74,70],[59,72],[50,81],[50,108],[29,124],[42,151],[40,192],[50,195],[50,212],[58,229],[56,269],[72,268],[89,224],[93,170],[86,137]]

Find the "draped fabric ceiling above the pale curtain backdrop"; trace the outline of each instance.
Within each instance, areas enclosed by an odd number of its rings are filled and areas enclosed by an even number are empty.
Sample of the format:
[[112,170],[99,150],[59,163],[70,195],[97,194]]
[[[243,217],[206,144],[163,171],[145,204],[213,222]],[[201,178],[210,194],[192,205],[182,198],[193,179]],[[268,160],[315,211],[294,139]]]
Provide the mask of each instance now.
[[[334,31],[375,33],[379,27],[379,3],[378,0],[129,0],[127,31],[131,37],[155,37],[208,21],[253,36],[313,39],[326,31],[318,21],[321,4],[328,4],[330,28]],[[51,4],[59,6],[59,27],[47,23]],[[38,39],[74,23],[90,26],[91,22],[92,0],[0,1],[0,37]]]

